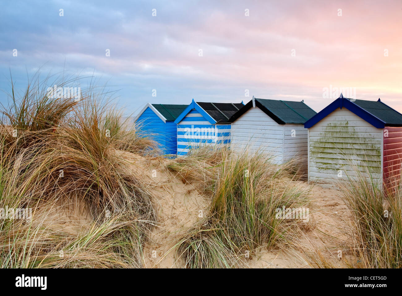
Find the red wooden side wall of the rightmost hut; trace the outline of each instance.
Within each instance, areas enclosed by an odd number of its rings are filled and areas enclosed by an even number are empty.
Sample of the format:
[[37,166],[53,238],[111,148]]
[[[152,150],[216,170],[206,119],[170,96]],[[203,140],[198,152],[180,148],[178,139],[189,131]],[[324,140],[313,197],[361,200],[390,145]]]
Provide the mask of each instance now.
[[384,128],[384,188],[392,190],[401,178],[402,127]]

